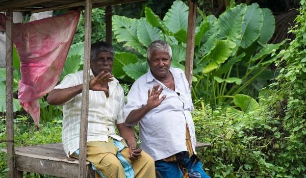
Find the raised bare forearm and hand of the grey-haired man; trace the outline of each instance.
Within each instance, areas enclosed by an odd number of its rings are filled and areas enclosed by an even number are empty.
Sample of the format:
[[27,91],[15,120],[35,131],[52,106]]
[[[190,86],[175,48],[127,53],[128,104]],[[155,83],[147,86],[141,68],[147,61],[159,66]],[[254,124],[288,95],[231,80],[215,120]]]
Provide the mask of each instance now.
[[166,98],[166,95],[163,95],[161,98],[159,96],[161,95],[162,91],[164,90],[164,87],[162,87],[160,90],[158,90],[160,87],[160,84],[157,86],[154,85],[152,88],[152,92],[150,92],[150,89],[148,90],[148,101],[147,104],[139,109],[135,109],[130,112],[130,114],[126,117],[125,123],[131,124],[136,123],[139,120],[141,120],[149,111],[152,109],[158,107],[162,101]]

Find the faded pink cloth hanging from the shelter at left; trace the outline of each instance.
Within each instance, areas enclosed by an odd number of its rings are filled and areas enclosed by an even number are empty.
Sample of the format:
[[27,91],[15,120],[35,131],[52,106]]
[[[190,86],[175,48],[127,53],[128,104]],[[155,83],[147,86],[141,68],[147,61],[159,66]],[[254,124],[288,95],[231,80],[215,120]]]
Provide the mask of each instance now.
[[[18,98],[39,126],[39,98],[57,85],[80,19],[80,11],[13,25],[13,42],[20,63]],[[0,14],[0,29],[5,29]]]

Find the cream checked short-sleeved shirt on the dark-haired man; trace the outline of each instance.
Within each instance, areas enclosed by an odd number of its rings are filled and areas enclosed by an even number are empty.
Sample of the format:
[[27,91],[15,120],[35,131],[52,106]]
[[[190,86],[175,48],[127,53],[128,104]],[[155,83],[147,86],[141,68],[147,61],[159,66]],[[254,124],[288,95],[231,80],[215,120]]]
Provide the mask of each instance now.
[[[90,69],[90,78],[94,75]],[[109,97],[104,91],[89,90],[88,136],[87,141],[108,141],[108,136],[121,140],[116,135],[114,125],[124,123],[124,91],[115,78],[108,83]],[[66,75],[61,84],[54,89],[64,89],[83,83],[83,70]],[[74,96],[63,106],[62,140],[69,157],[80,147],[82,93]]]

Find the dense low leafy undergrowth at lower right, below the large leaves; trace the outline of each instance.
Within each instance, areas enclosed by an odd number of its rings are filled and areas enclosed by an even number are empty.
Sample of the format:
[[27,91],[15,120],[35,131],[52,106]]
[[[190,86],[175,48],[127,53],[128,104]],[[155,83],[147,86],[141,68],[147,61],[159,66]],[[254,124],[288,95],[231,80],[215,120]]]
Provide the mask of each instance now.
[[[272,100],[275,109],[270,111]],[[210,176],[306,177],[304,140],[288,137],[286,121],[277,117],[282,108],[275,97],[261,101],[263,112],[245,113],[241,120],[210,106],[193,113],[197,140],[212,144],[197,150]]]

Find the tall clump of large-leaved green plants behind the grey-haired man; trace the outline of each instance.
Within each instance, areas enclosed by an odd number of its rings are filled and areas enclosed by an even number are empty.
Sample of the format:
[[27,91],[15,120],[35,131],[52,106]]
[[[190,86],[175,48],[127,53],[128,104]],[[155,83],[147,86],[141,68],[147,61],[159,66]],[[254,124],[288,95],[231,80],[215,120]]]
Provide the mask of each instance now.
[[[275,29],[271,11],[262,10],[256,3],[236,6],[233,1],[219,18],[206,17],[199,9],[198,12],[201,19],[197,20],[195,34],[193,99],[205,98],[203,102],[206,104],[225,106],[225,110],[233,104],[236,94],[258,96],[261,87],[266,87],[268,80],[273,78],[267,75],[270,71],[267,67],[279,57],[275,53],[285,43],[265,44]],[[118,42],[123,42],[123,46],[132,52],[136,51],[140,58],[146,58],[146,47],[152,41],[167,41],[172,48],[171,66],[184,70],[187,17],[188,6],[177,0],[163,19],[148,7],[145,8],[145,18],[141,19],[115,15],[113,30]],[[254,56],[256,50],[259,53]],[[145,61],[119,66],[123,67],[125,75],[121,69],[116,69],[120,76],[128,75],[136,80],[146,72],[142,62]],[[259,84],[262,82],[263,86]]]

